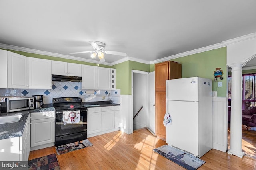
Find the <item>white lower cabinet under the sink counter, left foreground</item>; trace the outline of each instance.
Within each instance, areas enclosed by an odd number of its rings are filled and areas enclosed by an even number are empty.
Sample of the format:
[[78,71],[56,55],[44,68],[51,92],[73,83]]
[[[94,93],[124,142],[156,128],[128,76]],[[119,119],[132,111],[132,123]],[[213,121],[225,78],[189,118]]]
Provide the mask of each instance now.
[[28,161],[30,152],[30,119],[26,120],[22,136],[0,140],[1,161]]

